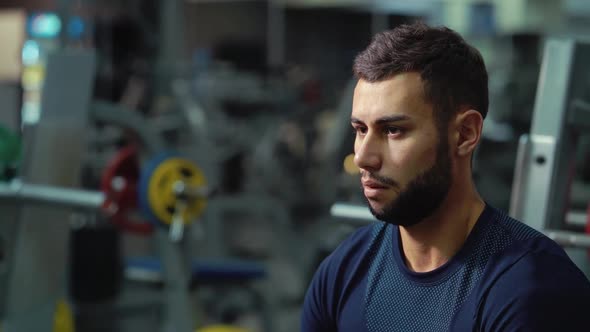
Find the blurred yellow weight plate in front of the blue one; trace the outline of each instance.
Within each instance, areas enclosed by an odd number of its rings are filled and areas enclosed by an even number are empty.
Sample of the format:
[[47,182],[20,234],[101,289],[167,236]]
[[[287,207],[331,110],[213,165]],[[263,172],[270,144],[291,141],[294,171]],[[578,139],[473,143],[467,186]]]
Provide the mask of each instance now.
[[[203,171],[184,158],[168,158],[153,171],[148,183],[148,202],[154,215],[166,225],[172,223],[177,205],[174,185],[183,181],[188,187],[204,187],[207,182]],[[205,209],[205,198],[188,201],[182,219],[185,224],[197,219]]]

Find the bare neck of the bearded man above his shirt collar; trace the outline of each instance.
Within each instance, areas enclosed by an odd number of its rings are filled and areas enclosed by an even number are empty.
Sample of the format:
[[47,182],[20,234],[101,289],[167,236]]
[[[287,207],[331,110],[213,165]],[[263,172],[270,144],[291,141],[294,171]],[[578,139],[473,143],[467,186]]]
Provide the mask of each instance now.
[[475,189],[458,195],[453,190],[434,215],[411,227],[400,227],[407,267],[432,271],[461,249],[481,215],[485,203]]

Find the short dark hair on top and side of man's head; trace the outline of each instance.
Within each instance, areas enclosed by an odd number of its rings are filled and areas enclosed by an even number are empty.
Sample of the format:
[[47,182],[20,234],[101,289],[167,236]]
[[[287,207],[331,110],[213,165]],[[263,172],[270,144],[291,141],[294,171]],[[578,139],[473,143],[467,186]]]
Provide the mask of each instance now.
[[405,72],[418,72],[424,96],[433,104],[439,125],[459,107],[488,113],[488,74],[479,51],[455,31],[424,23],[380,32],[354,60],[358,79],[378,82]]

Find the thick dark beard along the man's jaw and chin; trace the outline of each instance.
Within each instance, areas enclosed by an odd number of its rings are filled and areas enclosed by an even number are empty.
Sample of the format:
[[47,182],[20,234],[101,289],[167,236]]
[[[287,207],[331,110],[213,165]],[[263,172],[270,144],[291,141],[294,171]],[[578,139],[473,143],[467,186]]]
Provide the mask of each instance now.
[[443,137],[439,140],[436,161],[431,168],[408,183],[383,211],[375,211],[369,204],[369,210],[375,218],[409,227],[430,217],[440,207],[451,187],[449,144],[446,135]]

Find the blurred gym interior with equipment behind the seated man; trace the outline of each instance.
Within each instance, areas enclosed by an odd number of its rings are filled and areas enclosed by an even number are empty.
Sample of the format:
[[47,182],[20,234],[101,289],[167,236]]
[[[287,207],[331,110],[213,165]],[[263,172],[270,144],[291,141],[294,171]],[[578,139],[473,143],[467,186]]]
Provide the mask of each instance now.
[[590,2],[3,0],[0,329],[299,331],[372,221],[352,60],[417,19],[486,60],[481,194],[590,275]]

